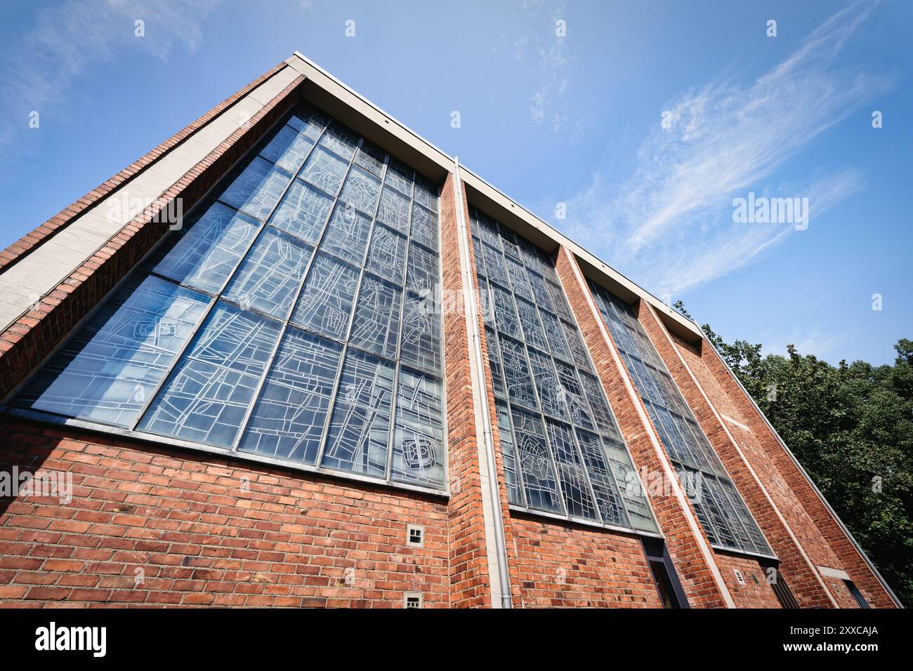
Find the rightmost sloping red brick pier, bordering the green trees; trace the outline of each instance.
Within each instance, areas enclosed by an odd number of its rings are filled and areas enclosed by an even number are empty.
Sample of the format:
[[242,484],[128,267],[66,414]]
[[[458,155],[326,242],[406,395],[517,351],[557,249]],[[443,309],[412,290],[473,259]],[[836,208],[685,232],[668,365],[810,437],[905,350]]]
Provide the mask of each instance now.
[[878,581],[875,573],[869,568],[865,559],[855,549],[843,529],[840,528],[840,525],[834,519],[834,516],[824,505],[824,501],[814,491],[811,483],[803,475],[799,467],[792,461],[792,457],[783,449],[780,441],[764,422],[757,408],[741,390],[732,373],[720,361],[717,352],[712,347],[704,347],[701,350],[701,359],[705,362],[708,370],[713,374],[724,393],[726,393],[730,402],[739,410],[741,417],[745,420],[744,424],[751,429],[751,434],[758,441],[761,450],[771,459],[771,463],[776,467],[786,486],[790,488],[803,508],[805,508],[809,518],[813,519],[824,540],[834,551],[840,561],[840,566],[832,568],[843,568],[855,582],[859,591],[866,597],[868,603],[878,608],[897,607],[884,586]]

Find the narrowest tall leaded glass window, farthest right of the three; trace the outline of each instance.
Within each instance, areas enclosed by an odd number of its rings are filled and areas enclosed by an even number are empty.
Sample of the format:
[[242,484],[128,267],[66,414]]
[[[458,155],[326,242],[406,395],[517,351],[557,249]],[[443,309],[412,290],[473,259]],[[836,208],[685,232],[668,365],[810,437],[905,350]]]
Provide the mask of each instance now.
[[729,550],[771,555],[635,310],[593,281],[590,289],[708,540]]

